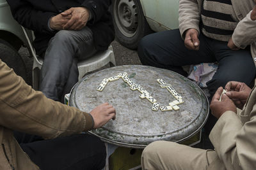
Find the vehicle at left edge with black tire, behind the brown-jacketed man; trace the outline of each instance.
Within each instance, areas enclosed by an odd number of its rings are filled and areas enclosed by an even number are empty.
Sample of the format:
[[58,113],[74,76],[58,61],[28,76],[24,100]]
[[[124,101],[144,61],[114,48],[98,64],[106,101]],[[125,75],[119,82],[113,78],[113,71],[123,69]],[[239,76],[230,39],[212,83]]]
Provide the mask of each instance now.
[[24,32],[12,17],[8,3],[0,0],[0,59],[26,80],[26,66],[18,53],[22,45],[28,45]]

